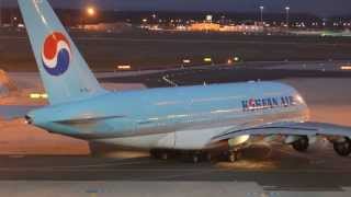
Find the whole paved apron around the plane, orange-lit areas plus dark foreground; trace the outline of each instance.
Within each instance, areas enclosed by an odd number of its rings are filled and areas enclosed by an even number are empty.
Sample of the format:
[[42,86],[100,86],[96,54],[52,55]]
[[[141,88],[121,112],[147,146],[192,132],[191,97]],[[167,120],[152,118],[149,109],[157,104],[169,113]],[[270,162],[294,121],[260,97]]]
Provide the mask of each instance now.
[[[20,92],[4,104],[43,105],[27,93],[43,91],[37,74],[10,73]],[[26,76],[26,77],[23,77]],[[99,73],[99,78],[114,77]],[[32,82],[32,84],[29,83]],[[348,78],[288,78],[312,109],[312,120],[351,126]],[[145,89],[109,83],[111,90]],[[91,158],[84,141],[49,135],[23,119],[0,121],[1,196],[350,196],[351,159],[325,141],[307,153],[288,146],[258,144],[237,163],[158,161],[145,152]]]

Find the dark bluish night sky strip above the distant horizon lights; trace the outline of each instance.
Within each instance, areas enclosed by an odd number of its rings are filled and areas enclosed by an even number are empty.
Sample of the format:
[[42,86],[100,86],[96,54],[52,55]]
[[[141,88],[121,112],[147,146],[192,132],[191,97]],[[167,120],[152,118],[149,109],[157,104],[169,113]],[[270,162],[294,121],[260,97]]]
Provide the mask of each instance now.
[[[16,0],[2,0],[14,5]],[[260,4],[265,12],[284,12],[286,5],[291,12],[314,13],[320,16],[351,14],[351,0],[50,0],[55,7],[78,8],[94,3],[103,9],[114,10],[167,10],[167,11],[235,11],[256,12]]]

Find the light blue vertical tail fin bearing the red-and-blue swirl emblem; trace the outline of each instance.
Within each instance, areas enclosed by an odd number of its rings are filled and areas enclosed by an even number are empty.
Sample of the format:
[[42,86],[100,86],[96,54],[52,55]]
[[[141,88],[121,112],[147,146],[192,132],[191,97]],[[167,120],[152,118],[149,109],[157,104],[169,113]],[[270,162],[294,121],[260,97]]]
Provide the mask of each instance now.
[[104,93],[47,0],[19,0],[50,104]]

